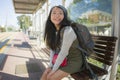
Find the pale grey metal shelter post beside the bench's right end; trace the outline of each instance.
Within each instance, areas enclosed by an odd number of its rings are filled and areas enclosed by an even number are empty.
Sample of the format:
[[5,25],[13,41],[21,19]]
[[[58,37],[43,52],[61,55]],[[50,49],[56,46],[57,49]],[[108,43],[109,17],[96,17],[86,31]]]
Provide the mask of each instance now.
[[118,38],[116,47],[115,47],[115,54],[114,54],[114,60],[112,64],[111,74],[109,80],[116,80],[116,74],[117,74],[117,66],[118,66],[118,58],[120,54],[120,0],[113,0],[112,1],[113,6],[113,35]]

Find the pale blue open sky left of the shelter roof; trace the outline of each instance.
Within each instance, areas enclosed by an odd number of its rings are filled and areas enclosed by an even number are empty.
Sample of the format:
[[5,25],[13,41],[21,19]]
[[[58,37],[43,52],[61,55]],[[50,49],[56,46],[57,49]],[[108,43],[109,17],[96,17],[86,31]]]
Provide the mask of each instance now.
[[13,25],[15,27],[17,24],[17,16],[19,14],[15,13],[12,0],[2,0],[0,2],[0,25]]

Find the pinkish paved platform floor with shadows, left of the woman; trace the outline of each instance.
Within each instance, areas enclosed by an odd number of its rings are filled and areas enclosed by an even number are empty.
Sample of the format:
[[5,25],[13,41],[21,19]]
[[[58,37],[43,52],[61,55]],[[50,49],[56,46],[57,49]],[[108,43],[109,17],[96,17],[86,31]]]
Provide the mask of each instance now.
[[[43,71],[49,64],[48,54],[37,46],[36,40],[29,39],[22,32],[13,33],[3,54],[7,58],[0,65],[0,80],[40,80]],[[28,65],[33,65],[33,63],[37,66]],[[72,79],[64,78],[62,80]]]

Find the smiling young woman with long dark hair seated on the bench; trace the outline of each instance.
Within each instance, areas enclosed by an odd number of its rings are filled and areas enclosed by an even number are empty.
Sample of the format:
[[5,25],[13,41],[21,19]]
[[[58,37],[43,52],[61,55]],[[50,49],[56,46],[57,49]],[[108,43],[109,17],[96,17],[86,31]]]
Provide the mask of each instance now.
[[[46,45],[50,48],[50,66],[44,71],[40,80],[61,80],[69,74],[80,71],[82,54],[77,49],[77,36],[70,25],[67,10],[61,5],[54,6],[46,21],[44,35]],[[58,53],[58,57],[52,64],[55,53]],[[65,58],[67,65],[61,66]]]

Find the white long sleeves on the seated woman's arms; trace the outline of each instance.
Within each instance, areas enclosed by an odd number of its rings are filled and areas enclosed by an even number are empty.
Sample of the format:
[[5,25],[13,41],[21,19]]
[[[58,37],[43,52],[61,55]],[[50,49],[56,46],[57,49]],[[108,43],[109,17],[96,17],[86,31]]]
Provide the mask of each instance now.
[[72,29],[72,27],[66,27],[63,34],[63,42],[61,45],[61,50],[59,52],[59,55],[56,59],[56,63],[54,65],[52,65],[52,58],[53,58],[54,51],[50,50],[50,67],[53,66],[52,68],[53,71],[56,71],[59,68],[64,58],[69,54],[68,53],[69,48],[71,47],[73,41],[76,38],[77,36],[74,30]]

